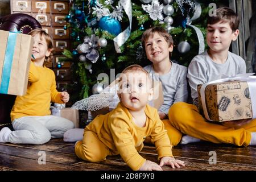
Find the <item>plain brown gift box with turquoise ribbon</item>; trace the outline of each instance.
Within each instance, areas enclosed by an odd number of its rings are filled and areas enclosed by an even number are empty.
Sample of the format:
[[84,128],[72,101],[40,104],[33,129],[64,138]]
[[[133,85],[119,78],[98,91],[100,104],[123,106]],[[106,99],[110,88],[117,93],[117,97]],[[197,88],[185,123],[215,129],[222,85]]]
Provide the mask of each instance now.
[[[10,56],[10,53],[6,52],[7,43],[9,42],[10,37],[8,31],[0,30],[0,88],[2,88],[1,90],[6,90],[6,92],[1,91],[1,93],[23,96],[27,92],[28,71],[31,62],[33,39],[31,35],[15,34],[16,43],[15,47],[13,47],[11,67],[5,67],[7,64],[5,63],[5,61],[7,61],[5,57]],[[8,69],[10,69],[10,74],[3,76],[6,71],[8,72]],[[3,84],[3,82],[5,82],[3,80],[7,80],[7,84]]]

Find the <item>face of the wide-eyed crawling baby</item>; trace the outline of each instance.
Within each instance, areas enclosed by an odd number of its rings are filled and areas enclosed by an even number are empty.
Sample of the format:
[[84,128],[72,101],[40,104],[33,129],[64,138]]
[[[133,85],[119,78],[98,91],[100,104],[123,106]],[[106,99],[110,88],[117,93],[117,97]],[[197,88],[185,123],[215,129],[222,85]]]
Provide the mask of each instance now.
[[118,93],[122,104],[134,111],[144,109],[153,96],[151,78],[141,71],[122,73],[120,78]]

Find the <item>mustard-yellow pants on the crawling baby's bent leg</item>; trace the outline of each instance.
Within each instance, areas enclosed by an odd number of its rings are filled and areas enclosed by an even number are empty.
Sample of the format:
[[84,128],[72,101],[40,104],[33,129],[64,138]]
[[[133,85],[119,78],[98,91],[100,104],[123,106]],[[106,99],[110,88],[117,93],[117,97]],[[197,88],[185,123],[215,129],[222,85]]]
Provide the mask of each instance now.
[[92,131],[86,131],[82,140],[76,143],[75,153],[80,159],[89,162],[100,162],[106,160],[106,156],[113,155]]

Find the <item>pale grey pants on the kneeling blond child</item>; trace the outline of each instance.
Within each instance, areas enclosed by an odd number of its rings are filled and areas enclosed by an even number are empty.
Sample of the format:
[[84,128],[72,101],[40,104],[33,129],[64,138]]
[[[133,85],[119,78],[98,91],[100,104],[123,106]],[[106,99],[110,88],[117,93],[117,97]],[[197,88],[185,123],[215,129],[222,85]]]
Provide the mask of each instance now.
[[68,119],[54,115],[21,117],[14,119],[9,135],[10,143],[43,144],[52,138],[62,138],[65,131],[74,127]]

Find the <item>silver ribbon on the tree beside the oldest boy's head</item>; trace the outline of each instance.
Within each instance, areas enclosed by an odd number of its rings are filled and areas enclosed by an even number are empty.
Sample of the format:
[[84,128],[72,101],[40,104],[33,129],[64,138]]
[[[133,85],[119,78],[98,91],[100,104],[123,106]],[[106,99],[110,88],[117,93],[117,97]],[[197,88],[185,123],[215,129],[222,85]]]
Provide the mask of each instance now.
[[196,35],[197,35],[198,42],[199,42],[199,51],[198,51],[199,54],[204,52],[204,48],[205,48],[204,47],[204,36],[203,36],[203,33],[201,32],[201,30],[199,28],[197,28],[196,26],[193,26],[191,23],[193,20],[199,18],[201,13],[202,13],[202,9],[201,9],[200,3],[195,1],[194,14],[193,14],[192,18],[189,18],[189,16],[187,17],[187,23],[186,23],[187,26],[193,28],[196,31]]

